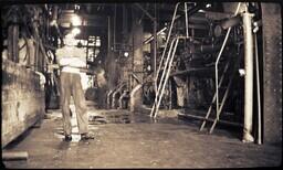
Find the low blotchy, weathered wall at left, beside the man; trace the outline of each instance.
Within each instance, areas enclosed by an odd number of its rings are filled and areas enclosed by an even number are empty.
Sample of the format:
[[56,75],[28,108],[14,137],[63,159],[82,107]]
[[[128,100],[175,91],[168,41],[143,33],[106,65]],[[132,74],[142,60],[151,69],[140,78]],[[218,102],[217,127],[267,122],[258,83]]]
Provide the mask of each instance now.
[[9,60],[2,60],[2,148],[44,115],[44,91],[40,76]]

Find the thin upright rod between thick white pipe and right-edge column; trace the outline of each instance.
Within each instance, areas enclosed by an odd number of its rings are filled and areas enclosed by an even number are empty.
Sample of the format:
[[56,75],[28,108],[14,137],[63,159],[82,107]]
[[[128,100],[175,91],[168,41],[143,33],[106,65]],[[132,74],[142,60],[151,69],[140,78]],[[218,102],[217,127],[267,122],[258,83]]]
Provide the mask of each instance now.
[[258,40],[254,34],[254,51],[255,51],[255,67],[256,67],[256,93],[258,93],[258,144],[261,145],[261,84],[260,84],[260,67],[259,67],[259,53],[258,53]]

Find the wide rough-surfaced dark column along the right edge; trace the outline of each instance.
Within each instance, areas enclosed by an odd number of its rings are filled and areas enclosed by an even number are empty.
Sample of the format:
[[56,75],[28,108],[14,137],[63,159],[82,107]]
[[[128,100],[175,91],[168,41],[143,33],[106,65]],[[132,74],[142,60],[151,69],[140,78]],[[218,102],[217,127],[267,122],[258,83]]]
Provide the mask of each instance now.
[[263,142],[282,142],[282,15],[276,3],[262,3]]

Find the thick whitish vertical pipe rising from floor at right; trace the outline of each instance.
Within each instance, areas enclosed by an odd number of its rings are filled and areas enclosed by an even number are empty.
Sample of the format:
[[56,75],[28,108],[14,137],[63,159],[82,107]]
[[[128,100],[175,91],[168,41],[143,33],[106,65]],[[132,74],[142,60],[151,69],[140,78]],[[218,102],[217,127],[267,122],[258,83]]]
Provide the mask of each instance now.
[[252,17],[248,10],[243,17],[244,36],[244,127],[243,142],[252,142],[252,117],[253,117],[253,38],[252,38]]

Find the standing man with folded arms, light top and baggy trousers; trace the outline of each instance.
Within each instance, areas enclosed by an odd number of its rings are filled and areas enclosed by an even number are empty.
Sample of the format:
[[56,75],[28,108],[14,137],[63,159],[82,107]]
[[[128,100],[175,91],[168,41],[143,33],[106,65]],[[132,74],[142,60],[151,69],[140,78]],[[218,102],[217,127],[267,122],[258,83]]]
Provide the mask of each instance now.
[[86,67],[86,56],[83,49],[76,47],[74,34],[65,33],[64,46],[56,50],[56,57],[61,67],[60,74],[60,104],[63,111],[63,129],[65,141],[72,140],[72,126],[70,116],[70,99],[73,96],[76,120],[81,140],[94,139],[88,134],[88,116],[84,92],[81,84],[80,68]]

